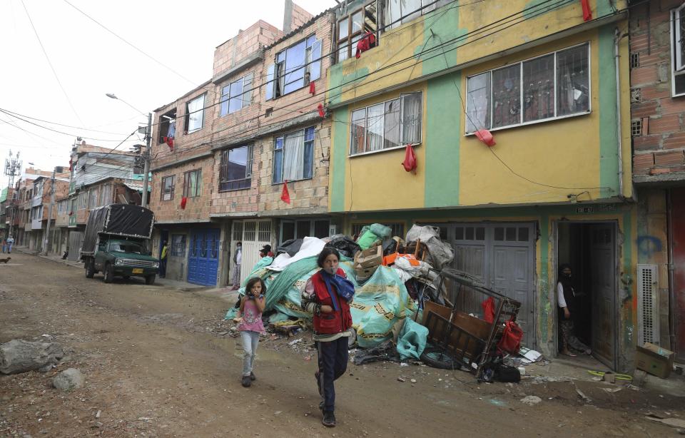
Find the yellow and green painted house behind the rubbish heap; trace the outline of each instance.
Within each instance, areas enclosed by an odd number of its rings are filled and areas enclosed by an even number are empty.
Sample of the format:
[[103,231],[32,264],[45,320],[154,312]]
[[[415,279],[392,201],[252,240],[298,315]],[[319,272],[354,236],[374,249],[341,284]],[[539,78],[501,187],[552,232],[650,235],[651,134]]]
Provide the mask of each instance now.
[[[557,268],[571,263],[584,293],[579,335],[628,370],[637,303],[626,1],[588,4],[591,18],[579,0],[339,7],[329,208],[345,233],[439,226],[456,268],[522,301],[526,343],[547,355],[557,352]],[[366,32],[377,40],[357,58]],[[494,146],[479,138],[488,133]],[[407,143],[413,172],[402,166]]]

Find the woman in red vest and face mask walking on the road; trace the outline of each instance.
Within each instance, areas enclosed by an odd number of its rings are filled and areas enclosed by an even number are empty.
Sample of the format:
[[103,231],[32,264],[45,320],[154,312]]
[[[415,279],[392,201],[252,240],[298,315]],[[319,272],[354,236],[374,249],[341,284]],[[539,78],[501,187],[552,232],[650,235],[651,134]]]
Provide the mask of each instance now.
[[314,377],[321,396],[321,422],[325,427],[335,426],[333,382],[347,369],[347,337],[352,327],[350,302],[355,295],[355,286],[347,280],[339,263],[338,250],[323,248],[317,259],[321,269],[308,280],[302,292],[302,308],[313,314],[313,338],[319,365]]

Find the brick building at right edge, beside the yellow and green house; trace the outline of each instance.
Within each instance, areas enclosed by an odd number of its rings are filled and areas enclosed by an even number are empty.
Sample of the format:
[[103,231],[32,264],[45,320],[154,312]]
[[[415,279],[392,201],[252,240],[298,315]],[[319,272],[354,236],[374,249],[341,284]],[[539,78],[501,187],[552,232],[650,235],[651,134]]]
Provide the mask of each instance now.
[[631,1],[638,343],[685,358],[685,4]]

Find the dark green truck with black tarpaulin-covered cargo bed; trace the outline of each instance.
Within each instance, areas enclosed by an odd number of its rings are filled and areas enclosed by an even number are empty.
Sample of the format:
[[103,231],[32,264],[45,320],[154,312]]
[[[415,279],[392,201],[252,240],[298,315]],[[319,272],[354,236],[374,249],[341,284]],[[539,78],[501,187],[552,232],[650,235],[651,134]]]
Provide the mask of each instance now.
[[144,277],[155,282],[159,260],[148,250],[154,216],[138,205],[111,204],[91,210],[83,236],[81,260],[86,277],[101,272],[106,283],[115,276]]

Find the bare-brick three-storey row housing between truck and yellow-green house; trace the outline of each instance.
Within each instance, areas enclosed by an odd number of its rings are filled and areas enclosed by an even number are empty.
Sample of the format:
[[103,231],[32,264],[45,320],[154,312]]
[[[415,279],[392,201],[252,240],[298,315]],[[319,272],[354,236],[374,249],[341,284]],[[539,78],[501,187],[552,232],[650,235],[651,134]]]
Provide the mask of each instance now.
[[[331,26],[330,12],[285,1],[284,31],[265,21],[240,31],[215,49],[210,81],[156,110],[153,245],[168,241],[168,277],[230,284],[236,242],[245,277],[263,245],[328,235],[330,121],[318,106]],[[187,133],[176,122],[193,109],[203,123]]]

